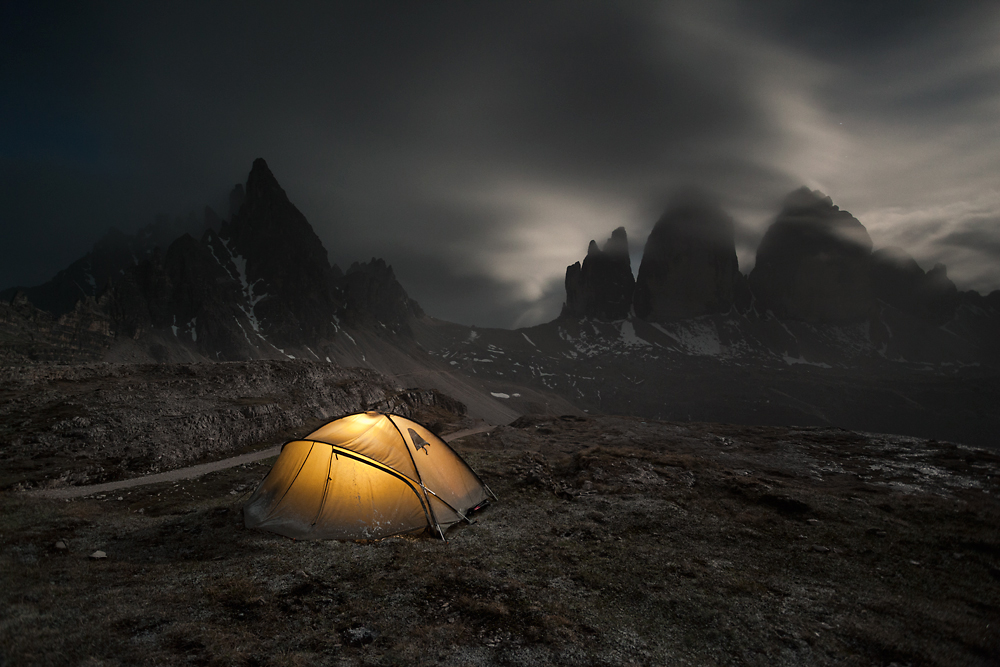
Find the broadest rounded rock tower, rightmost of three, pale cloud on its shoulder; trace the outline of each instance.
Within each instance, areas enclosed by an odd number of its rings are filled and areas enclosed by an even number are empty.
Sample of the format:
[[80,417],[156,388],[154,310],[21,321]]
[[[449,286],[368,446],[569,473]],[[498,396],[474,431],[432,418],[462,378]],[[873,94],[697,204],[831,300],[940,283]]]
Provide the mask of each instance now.
[[800,188],[757,248],[750,289],[780,319],[842,324],[868,317],[874,305],[872,241],[847,211],[818,191]]

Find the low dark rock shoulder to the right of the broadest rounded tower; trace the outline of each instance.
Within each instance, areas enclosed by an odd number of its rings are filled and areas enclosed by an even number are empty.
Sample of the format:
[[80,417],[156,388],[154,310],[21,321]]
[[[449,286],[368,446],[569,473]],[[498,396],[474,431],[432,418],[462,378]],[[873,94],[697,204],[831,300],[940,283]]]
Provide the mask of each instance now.
[[961,299],[944,264],[935,264],[924,273],[902,248],[872,253],[871,281],[877,298],[932,324],[944,324],[954,317]]

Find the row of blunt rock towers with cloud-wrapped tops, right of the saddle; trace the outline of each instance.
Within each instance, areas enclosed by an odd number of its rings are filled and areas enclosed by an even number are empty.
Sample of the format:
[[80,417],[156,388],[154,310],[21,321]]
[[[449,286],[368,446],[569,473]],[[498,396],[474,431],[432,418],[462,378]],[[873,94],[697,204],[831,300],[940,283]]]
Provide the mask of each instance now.
[[562,316],[622,319],[631,304],[636,317],[650,322],[752,311],[779,320],[878,326],[881,306],[944,324],[961,303],[1000,305],[1000,291],[986,297],[959,292],[943,264],[924,272],[901,248],[873,253],[861,222],[805,187],[786,198],[748,275],[739,271],[732,219],[697,192],[676,197],[653,227],[634,281],[622,277],[626,270],[631,273],[624,228],[604,250],[591,241],[582,266],[566,269]]

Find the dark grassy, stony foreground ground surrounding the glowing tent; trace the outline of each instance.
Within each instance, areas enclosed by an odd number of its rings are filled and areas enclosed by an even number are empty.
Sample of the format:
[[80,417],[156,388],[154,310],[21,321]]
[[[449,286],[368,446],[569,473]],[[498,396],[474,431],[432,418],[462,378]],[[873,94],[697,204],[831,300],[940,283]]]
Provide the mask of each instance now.
[[610,416],[453,446],[500,500],[447,543],[248,531],[270,461],[73,501],[0,492],[0,664],[1000,660],[989,451]]

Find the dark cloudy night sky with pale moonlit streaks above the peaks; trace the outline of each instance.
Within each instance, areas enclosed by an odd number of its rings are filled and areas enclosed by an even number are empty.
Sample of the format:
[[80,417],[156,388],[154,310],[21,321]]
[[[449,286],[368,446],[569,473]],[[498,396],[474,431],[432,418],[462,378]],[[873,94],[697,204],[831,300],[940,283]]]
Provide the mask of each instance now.
[[669,194],[740,268],[808,185],[962,289],[1000,288],[1000,4],[0,5],[0,287],[268,161],[330,254],[430,314],[549,320],[565,267]]

